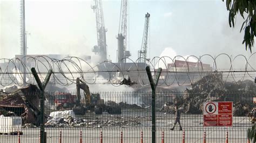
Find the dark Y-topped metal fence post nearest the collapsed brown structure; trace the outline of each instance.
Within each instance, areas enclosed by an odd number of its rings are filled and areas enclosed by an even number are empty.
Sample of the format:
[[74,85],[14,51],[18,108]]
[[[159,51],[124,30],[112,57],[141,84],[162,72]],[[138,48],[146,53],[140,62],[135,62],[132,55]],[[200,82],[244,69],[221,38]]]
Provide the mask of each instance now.
[[52,70],[50,69],[48,71],[48,74],[46,75],[44,82],[42,83],[35,68],[31,68],[32,74],[35,77],[35,80],[37,82],[37,85],[41,91],[41,102],[40,102],[40,142],[45,143],[45,132],[44,132],[44,89],[47,85],[47,83],[50,80]]

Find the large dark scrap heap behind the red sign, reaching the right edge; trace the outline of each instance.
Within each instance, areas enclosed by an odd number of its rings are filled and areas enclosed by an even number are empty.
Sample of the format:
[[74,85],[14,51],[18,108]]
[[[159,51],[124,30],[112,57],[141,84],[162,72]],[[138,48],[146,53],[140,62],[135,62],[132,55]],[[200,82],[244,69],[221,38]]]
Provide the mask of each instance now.
[[[161,111],[173,113],[174,106],[179,106],[184,113],[200,114],[203,112],[203,103],[210,101],[232,101],[233,115],[246,116],[253,108],[252,101],[248,97],[235,95],[235,91],[255,91],[256,87],[250,80],[238,83],[222,80],[222,74],[213,73],[204,76],[201,80],[192,84],[191,89],[186,89],[184,95],[176,95],[173,101],[165,102]],[[231,93],[231,95],[226,95]],[[235,98],[238,96],[239,98]]]

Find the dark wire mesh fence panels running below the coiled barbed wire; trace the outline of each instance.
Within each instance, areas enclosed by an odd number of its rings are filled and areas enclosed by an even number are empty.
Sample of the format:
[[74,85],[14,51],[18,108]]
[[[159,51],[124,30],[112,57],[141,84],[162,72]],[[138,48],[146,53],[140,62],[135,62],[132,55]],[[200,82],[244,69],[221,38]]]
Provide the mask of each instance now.
[[[156,141],[246,142],[255,91],[157,92]],[[151,92],[45,93],[46,142],[151,142]],[[203,103],[233,102],[232,127],[204,127]],[[0,100],[0,142],[39,142],[40,95],[15,92]],[[173,124],[180,111],[180,125]],[[3,117],[5,116],[5,117]],[[15,116],[7,117],[7,116]],[[121,135],[122,132],[122,135]],[[101,134],[102,133],[102,134]],[[184,134],[185,133],[185,134]]]

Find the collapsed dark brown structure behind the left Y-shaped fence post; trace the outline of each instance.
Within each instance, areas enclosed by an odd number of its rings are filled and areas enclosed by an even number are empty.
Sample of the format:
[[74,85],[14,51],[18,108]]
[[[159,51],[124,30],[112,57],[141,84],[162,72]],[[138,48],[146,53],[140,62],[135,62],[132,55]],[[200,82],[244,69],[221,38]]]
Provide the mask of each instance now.
[[15,89],[10,94],[2,96],[0,100],[0,115],[20,116],[23,124],[39,125],[39,93],[40,91],[36,85],[30,84],[27,87]]

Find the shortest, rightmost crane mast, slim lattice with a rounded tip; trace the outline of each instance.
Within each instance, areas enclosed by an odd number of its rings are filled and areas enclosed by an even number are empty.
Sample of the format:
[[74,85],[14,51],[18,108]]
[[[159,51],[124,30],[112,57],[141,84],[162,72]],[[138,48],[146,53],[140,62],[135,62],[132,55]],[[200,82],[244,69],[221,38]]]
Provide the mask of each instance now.
[[150,13],[146,13],[145,15],[145,24],[144,24],[144,32],[142,38],[142,48],[138,51],[139,62],[146,62],[147,59],[147,38],[149,35],[149,20],[150,20]]

